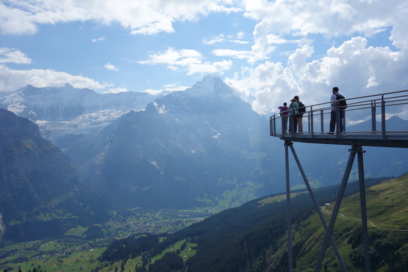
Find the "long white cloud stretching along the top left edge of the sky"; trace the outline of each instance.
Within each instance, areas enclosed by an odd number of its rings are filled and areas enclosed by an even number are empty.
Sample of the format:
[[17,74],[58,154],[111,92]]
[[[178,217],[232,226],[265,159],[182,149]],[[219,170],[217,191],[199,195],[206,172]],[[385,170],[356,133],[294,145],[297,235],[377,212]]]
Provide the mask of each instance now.
[[0,32],[3,34],[32,34],[39,24],[72,21],[119,22],[132,34],[173,32],[175,21],[194,21],[210,12],[237,12],[233,1],[224,0],[111,0],[55,1],[19,0],[12,4],[0,2]]

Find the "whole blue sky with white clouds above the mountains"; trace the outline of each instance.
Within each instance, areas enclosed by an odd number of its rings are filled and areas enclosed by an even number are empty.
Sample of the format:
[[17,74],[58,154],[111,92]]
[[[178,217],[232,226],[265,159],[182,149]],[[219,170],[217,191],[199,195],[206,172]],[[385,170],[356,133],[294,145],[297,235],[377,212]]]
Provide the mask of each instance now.
[[0,0],[0,91],[182,91],[216,75],[259,114],[408,89],[407,0]]

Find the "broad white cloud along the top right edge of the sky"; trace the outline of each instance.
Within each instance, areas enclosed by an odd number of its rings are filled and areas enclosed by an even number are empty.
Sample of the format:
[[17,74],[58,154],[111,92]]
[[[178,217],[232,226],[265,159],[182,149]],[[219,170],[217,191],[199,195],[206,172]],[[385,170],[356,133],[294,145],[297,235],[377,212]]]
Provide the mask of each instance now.
[[360,33],[370,37],[391,25],[407,28],[404,18],[408,15],[408,3],[404,0],[244,0],[244,5],[246,17],[268,20],[269,31],[274,33],[303,36],[310,33],[326,36]]

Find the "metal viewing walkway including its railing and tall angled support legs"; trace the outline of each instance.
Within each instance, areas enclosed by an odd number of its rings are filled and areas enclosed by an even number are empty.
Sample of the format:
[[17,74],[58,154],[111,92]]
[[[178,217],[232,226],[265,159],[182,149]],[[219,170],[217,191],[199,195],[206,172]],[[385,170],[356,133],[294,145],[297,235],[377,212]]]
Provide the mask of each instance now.
[[[294,122],[293,119],[291,120],[292,115],[289,115],[289,124],[286,125],[288,131],[291,131],[291,133],[284,133],[283,129],[285,124],[283,122],[286,120],[280,116],[280,113],[276,113],[270,117],[270,135],[279,137],[281,140],[285,141],[289,272],[293,271],[289,149],[293,154],[322,224],[326,229],[326,235],[315,267],[315,272],[319,272],[321,269],[329,243],[333,247],[342,270],[347,271],[341,255],[337,250],[336,244],[331,237],[331,233],[333,231],[334,223],[340,208],[352,165],[355,156],[357,155],[365,271],[371,271],[364,184],[363,153],[365,153],[365,151],[363,150],[363,146],[408,148],[408,90],[348,98],[346,101],[347,108],[341,113],[344,116],[343,119],[339,118],[339,107],[335,107],[336,124],[339,124],[341,121],[343,131],[340,131],[339,126],[336,125],[333,133],[327,133],[329,131],[330,115],[332,110],[330,102],[306,106],[306,112],[302,118],[302,134],[294,132]],[[336,103],[338,103],[338,101]],[[291,110],[288,110],[288,112],[290,111]],[[307,180],[305,172],[303,171],[298,156],[296,155],[293,142],[351,146],[349,149],[350,156],[328,225],[323,217],[320,206],[314,196],[313,190],[309,184],[309,181]]]

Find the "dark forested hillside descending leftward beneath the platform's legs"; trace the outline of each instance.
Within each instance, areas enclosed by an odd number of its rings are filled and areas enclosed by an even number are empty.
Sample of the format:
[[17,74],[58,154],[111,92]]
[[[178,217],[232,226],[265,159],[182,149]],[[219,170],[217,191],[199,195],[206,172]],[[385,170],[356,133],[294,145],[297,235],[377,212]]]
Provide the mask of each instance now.
[[[384,209],[380,212],[373,199],[379,195],[398,192],[396,184],[401,187],[401,193],[404,193],[408,182],[408,176],[397,180],[385,181],[388,179],[367,179],[366,186],[371,187],[381,181],[384,181],[367,190],[367,209],[377,211],[382,216],[390,212],[397,212]],[[393,183],[394,182],[394,183]],[[387,187],[383,191],[378,191],[378,187]],[[315,191],[319,205],[333,202],[338,193],[338,185],[321,188]],[[408,191],[408,190],[405,190]],[[352,211],[359,209],[358,201],[355,199],[358,194],[358,182],[350,182],[347,185],[344,202],[341,208],[347,205]],[[314,268],[321,243],[324,238],[323,226],[319,217],[316,215],[315,208],[308,193],[296,192],[296,196],[291,199],[292,212],[292,230],[294,242],[294,260],[295,270],[305,271]],[[347,197],[348,196],[348,197]],[[375,196],[375,197],[374,197]],[[286,201],[275,201],[268,203],[268,200],[277,199],[276,195],[255,199],[247,202],[241,207],[228,209],[224,212],[207,218],[206,220],[193,224],[192,226],[176,232],[173,235],[165,237],[163,242],[155,245],[151,244],[149,258],[161,254],[163,250],[170,247],[171,244],[183,240],[191,239],[197,244],[197,251],[194,256],[185,261],[185,270],[194,272],[207,271],[287,271],[287,238],[286,238]],[[393,199],[398,199],[393,197]],[[350,202],[351,201],[351,202]],[[378,204],[378,203],[377,203]],[[404,203],[391,203],[396,208]],[[387,207],[387,206],[385,206]],[[398,209],[398,208],[397,208]],[[343,211],[343,210],[342,210]],[[370,214],[369,213],[369,218]],[[404,211],[404,210],[402,210]],[[329,220],[329,210],[326,221]],[[353,214],[358,218],[358,214]],[[390,220],[400,218],[398,225]],[[384,217],[384,224],[408,229],[407,218],[401,216]],[[349,219],[350,220],[350,219]],[[360,225],[361,221],[350,220],[352,223],[345,224],[342,219],[338,219],[333,234],[338,243],[340,252],[349,271],[360,271],[364,268],[362,238]],[[153,238],[153,237],[152,237]],[[149,240],[152,241],[152,238]],[[372,253],[373,268],[388,268],[385,271],[398,271],[406,264],[405,250],[408,234],[400,231],[394,233],[393,230],[370,228],[370,249]],[[138,239],[127,238],[112,244],[102,255],[101,261],[127,260],[130,256],[140,254],[136,251],[138,248]],[[156,240],[154,238],[153,240]],[[116,248],[116,250],[115,250]],[[134,250],[130,250],[133,248]],[[119,249],[123,252],[119,255]],[[114,254],[114,255],[113,255]],[[182,255],[182,254],[181,254]],[[114,257],[113,257],[114,256]],[[113,259],[112,259],[113,258]],[[131,258],[131,257],[130,257]],[[175,257],[167,255],[168,265],[176,263]],[[145,258],[144,264],[141,264],[138,271],[145,271],[149,268],[149,259]],[[173,260],[173,261],[170,261]],[[157,260],[154,262],[156,263]],[[163,262],[161,261],[163,268]],[[153,262],[152,262],[153,263]],[[332,250],[327,250],[324,266],[326,269],[336,271],[339,269],[338,261],[335,259]],[[143,265],[143,266],[142,266]],[[390,270],[390,269],[395,270]],[[170,267],[167,268],[171,271]],[[150,269],[148,269],[150,271]],[[152,271],[153,267],[152,267]]]

